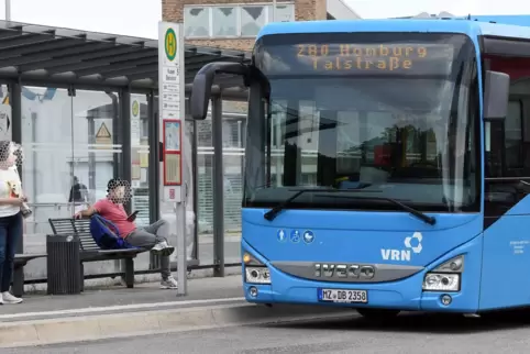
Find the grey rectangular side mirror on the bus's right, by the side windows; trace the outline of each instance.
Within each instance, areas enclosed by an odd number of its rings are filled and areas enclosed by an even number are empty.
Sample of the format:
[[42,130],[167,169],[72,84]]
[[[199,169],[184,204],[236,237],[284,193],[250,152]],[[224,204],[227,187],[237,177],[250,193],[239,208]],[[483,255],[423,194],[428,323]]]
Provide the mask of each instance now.
[[510,76],[486,70],[484,85],[484,120],[503,121],[508,115]]

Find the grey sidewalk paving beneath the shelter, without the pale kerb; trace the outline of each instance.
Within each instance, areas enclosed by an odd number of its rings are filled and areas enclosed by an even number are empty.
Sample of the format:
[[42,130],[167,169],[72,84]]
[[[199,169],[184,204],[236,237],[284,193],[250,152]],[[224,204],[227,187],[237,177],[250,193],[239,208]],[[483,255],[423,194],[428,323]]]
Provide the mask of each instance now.
[[[153,305],[153,309],[159,309],[175,305],[179,301],[183,307],[197,306],[198,303],[214,305],[216,300],[243,301],[241,275],[227,276],[224,278],[197,278],[188,279],[188,295],[177,297],[176,290],[161,289],[159,283],[144,283],[134,285],[133,289],[124,286],[111,286],[104,288],[91,288],[81,295],[48,296],[45,292],[30,294],[24,296],[24,302],[19,305],[4,305],[0,307],[0,321],[7,320],[9,314],[35,313],[47,311],[65,311],[86,308],[131,306],[137,309],[137,305]],[[133,307],[134,306],[134,307]],[[120,309],[122,310],[122,309]],[[59,314],[59,313],[57,313]],[[85,313],[86,314],[86,313]],[[24,316],[25,317],[25,316]]]

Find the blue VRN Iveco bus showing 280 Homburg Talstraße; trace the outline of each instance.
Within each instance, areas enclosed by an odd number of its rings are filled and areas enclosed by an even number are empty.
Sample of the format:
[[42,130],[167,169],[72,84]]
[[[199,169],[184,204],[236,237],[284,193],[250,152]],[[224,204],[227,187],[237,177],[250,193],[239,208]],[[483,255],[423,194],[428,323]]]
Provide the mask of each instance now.
[[197,74],[194,119],[216,75],[249,87],[247,301],[378,319],[530,305],[529,27],[272,23],[252,64]]

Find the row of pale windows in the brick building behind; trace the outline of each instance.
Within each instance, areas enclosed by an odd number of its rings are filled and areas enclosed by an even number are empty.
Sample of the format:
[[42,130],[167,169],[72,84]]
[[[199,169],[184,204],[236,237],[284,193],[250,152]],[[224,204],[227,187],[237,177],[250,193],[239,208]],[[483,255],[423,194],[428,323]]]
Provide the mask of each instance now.
[[254,37],[268,22],[295,21],[295,4],[186,5],[186,38]]

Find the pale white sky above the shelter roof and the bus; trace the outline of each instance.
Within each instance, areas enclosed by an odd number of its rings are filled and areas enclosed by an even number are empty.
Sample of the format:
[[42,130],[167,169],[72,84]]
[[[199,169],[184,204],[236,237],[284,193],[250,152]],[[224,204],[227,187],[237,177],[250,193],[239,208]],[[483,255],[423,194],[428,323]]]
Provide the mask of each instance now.
[[[343,0],[363,19],[416,15],[530,14],[523,0]],[[234,1],[238,2],[238,1]],[[11,20],[58,27],[156,38],[161,0],[11,0]],[[0,0],[0,19],[5,19]]]

